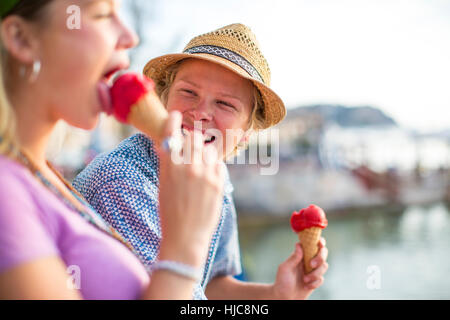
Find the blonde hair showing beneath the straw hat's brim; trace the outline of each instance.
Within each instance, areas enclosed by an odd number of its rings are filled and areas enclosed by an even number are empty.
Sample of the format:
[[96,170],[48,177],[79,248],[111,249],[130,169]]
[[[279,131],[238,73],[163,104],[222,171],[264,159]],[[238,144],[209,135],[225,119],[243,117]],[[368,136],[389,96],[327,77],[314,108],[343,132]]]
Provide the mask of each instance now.
[[[167,99],[169,96],[170,87],[172,86],[175,77],[177,75],[178,70],[180,69],[181,64],[186,60],[180,60],[165,70],[165,76],[155,84],[156,93],[160,97],[162,103],[167,105]],[[246,134],[250,136],[253,132],[257,132],[264,128],[265,118],[264,118],[264,101],[259,92],[258,88],[253,85],[253,108],[250,114],[248,129],[246,130]],[[245,150],[248,147],[248,140],[244,140],[239,142],[234,150],[234,155],[237,155],[239,150]]]

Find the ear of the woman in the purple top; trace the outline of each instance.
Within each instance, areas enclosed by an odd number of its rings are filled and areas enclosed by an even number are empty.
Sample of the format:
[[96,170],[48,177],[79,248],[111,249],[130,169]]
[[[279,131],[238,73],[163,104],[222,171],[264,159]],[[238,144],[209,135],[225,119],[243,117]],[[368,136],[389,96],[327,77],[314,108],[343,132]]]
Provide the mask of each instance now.
[[7,17],[1,23],[1,40],[9,55],[20,64],[30,65],[36,60],[31,28],[17,16]]

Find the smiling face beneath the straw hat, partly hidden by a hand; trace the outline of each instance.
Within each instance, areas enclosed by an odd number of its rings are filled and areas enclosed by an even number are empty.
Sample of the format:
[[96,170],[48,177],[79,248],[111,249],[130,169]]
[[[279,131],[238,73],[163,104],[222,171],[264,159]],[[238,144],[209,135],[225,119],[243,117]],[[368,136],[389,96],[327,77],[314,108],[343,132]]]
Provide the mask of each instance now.
[[178,69],[166,107],[183,114],[184,130],[201,123],[205,144],[214,145],[225,158],[249,129],[253,96],[249,80],[216,63],[189,59]]

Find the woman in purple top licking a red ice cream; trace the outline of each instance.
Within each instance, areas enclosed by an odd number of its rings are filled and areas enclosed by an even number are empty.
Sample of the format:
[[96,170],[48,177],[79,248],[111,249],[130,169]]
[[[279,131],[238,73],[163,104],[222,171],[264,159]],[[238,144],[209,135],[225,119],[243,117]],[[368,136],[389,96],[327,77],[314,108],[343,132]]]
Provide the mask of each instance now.
[[[78,30],[66,27],[73,5]],[[1,0],[0,18],[0,299],[189,299],[222,197],[221,167],[198,160],[207,148],[185,166],[161,154],[165,264],[151,282],[126,240],[45,159],[56,122],[92,129],[105,81],[128,66],[137,37],[116,1]],[[180,126],[172,113],[167,135]]]

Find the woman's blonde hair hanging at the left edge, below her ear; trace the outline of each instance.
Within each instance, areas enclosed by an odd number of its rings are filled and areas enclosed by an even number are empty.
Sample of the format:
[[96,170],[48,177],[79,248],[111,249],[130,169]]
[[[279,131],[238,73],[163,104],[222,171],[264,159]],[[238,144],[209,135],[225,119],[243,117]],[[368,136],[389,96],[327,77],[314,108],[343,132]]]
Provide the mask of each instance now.
[[14,156],[18,150],[16,119],[5,88],[6,53],[0,39],[0,154]]

